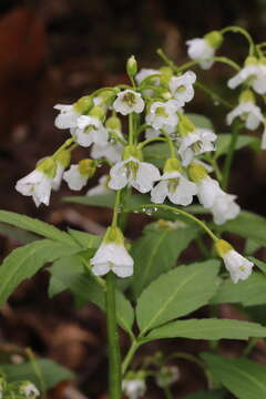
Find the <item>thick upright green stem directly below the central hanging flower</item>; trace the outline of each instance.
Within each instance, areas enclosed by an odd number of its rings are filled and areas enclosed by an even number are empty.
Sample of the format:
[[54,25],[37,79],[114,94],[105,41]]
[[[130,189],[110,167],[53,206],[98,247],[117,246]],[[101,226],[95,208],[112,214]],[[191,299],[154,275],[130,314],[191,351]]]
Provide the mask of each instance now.
[[109,341],[109,392],[110,399],[120,399],[122,395],[121,358],[115,315],[115,276],[112,272],[106,276],[105,304]]

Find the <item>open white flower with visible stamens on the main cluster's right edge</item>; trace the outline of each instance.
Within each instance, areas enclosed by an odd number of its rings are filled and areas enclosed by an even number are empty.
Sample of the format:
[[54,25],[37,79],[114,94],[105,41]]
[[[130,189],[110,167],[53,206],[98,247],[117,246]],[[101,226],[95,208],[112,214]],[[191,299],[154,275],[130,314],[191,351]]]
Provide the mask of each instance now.
[[180,139],[178,154],[182,157],[182,164],[187,166],[195,155],[214,151],[216,134],[209,129],[197,129],[190,132],[185,137]]

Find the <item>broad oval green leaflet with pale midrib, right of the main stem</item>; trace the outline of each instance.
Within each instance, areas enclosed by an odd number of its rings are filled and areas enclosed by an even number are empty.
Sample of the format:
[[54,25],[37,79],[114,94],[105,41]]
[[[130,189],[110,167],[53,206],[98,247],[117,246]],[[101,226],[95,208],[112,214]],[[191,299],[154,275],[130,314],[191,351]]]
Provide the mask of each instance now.
[[142,335],[208,303],[217,284],[218,260],[178,266],[160,276],[141,295],[136,318]]

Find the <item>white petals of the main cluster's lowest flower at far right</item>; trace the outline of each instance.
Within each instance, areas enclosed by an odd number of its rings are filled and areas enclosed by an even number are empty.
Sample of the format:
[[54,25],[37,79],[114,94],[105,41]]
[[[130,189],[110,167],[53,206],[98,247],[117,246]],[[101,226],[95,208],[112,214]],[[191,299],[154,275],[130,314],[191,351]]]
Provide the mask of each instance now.
[[241,212],[241,207],[235,203],[236,195],[224,192],[215,197],[211,212],[214,216],[214,223],[224,224],[226,221],[234,219]]

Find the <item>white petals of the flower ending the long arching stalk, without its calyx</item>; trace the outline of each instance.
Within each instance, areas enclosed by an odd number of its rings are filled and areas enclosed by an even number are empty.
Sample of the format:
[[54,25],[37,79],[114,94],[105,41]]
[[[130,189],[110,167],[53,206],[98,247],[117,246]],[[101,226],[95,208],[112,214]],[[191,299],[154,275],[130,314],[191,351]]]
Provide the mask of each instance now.
[[238,254],[235,249],[231,249],[223,255],[226,269],[231,274],[233,283],[239,279],[245,280],[252,274],[254,264]]

